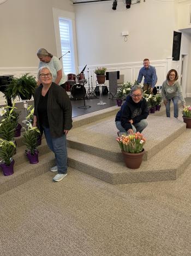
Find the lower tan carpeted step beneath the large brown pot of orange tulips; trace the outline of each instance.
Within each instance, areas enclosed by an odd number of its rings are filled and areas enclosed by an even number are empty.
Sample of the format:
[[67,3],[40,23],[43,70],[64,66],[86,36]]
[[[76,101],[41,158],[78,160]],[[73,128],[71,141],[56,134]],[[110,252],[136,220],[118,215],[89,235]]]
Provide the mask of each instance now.
[[191,130],[187,129],[136,170],[124,162],[115,163],[102,157],[68,149],[69,166],[111,184],[175,180],[191,163]]

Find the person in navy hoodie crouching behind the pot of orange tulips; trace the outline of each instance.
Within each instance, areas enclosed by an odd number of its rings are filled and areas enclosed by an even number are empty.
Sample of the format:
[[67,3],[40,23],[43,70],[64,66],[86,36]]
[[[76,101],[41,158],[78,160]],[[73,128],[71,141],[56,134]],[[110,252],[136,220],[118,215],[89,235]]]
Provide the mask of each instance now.
[[139,84],[130,90],[130,95],[127,96],[126,102],[121,106],[115,118],[119,132],[141,133],[147,127],[148,105],[142,94]]

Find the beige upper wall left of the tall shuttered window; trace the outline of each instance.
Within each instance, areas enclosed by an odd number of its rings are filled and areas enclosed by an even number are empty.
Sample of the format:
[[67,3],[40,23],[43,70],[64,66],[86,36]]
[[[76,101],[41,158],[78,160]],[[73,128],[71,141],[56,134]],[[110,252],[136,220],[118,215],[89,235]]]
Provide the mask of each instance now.
[[35,67],[39,48],[56,55],[52,8],[74,12],[69,0],[8,0],[0,4],[0,67]]

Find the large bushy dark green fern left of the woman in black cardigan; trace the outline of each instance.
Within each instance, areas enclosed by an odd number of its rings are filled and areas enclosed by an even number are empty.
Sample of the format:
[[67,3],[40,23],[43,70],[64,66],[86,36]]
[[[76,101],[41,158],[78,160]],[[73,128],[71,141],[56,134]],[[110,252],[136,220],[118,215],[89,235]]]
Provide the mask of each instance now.
[[11,77],[6,93],[13,99],[19,96],[22,100],[30,100],[36,87],[35,77],[26,73],[19,78]]

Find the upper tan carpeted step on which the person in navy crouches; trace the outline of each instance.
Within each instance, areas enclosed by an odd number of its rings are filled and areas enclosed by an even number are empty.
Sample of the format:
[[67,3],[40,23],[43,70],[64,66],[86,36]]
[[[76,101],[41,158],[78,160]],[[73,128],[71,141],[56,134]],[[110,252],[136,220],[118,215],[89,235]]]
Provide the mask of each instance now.
[[[175,118],[149,116],[148,127],[143,132],[147,139],[144,160],[156,155],[185,130],[186,124]],[[119,162],[122,161],[122,155],[116,138],[115,116],[111,116],[72,129],[67,136],[67,141],[68,147]]]

